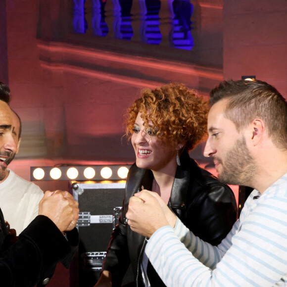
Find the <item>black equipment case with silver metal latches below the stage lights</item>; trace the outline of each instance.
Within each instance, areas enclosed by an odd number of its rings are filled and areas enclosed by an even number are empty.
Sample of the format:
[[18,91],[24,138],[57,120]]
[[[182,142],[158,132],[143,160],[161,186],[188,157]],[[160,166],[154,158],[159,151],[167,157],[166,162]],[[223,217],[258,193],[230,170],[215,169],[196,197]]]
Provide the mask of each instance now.
[[70,272],[71,287],[93,287],[101,270],[110,235],[121,215],[125,182],[70,184],[79,202],[79,252]]

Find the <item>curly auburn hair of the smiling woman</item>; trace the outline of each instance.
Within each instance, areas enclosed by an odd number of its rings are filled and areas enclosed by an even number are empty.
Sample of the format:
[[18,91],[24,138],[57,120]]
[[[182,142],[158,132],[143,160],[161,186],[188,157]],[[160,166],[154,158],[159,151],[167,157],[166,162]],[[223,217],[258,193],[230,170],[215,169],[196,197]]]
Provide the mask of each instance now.
[[143,89],[141,97],[127,111],[126,136],[131,138],[141,112],[144,126],[148,127],[148,121],[151,121],[153,131],[162,143],[184,144],[184,149],[190,151],[206,135],[208,111],[206,101],[184,84]]

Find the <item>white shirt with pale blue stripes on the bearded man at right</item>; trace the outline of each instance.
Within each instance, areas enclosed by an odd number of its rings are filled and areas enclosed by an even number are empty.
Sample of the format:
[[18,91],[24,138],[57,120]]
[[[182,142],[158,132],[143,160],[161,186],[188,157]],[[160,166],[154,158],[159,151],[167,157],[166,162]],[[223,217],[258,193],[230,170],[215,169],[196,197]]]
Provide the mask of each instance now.
[[167,287],[287,286],[287,174],[263,194],[251,192],[217,247],[178,219],[151,236],[145,253]]

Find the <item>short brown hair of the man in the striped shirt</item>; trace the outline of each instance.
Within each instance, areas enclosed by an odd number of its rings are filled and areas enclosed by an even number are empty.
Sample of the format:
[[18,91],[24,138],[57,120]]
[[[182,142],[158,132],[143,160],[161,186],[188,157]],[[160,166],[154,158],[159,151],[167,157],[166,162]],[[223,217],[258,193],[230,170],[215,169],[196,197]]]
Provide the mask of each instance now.
[[225,116],[238,131],[260,118],[274,144],[287,149],[287,102],[273,86],[259,80],[223,81],[210,92],[210,105],[221,99],[228,100]]

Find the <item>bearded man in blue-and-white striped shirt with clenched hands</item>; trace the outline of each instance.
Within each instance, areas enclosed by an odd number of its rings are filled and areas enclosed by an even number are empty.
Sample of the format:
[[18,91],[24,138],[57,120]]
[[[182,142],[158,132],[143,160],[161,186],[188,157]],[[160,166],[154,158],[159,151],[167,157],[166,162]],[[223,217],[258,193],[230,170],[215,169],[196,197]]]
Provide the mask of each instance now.
[[208,140],[224,183],[254,189],[218,246],[196,238],[153,192],[130,200],[132,230],[168,287],[287,286],[287,102],[258,80],[211,91]]

